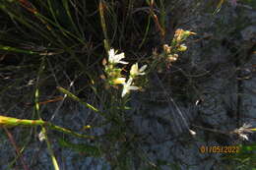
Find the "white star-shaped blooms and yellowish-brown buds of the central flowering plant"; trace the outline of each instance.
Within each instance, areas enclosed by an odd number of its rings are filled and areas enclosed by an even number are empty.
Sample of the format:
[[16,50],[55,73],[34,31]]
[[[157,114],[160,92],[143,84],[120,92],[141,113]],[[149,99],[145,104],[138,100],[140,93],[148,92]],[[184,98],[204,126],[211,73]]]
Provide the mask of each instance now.
[[[161,62],[162,58],[166,61],[166,64],[169,66],[172,62],[175,62],[178,59],[178,52],[183,52],[187,49],[187,46],[183,43],[183,41],[186,40],[186,38],[190,35],[196,34],[193,31],[189,30],[183,30],[181,28],[178,28],[175,31],[174,37],[170,44],[164,44],[163,45],[163,53],[160,55],[156,55],[156,61],[155,62]],[[142,66],[139,68],[138,63],[135,63],[132,65],[130,70],[130,75],[128,78],[125,78],[121,74],[121,69],[116,67],[117,64],[123,64],[127,65],[128,62],[123,61],[122,59],[125,58],[124,53],[117,54],[117,51],[115,51],[113,48],[111,48],[108,52],[108,60],[103,61],[104,65],[104,71],[107,76],[107,82],[109,85],[123,85],[122,90],[122,97],[124,97],[127,93],[130,92],[130,90],[138,90],[140,87],[134,85],[134,82],[138,83],[138,77],[145,75],[145,70],[147,68],[147,65]],[[193,132],[191,132],[194,134]]]

